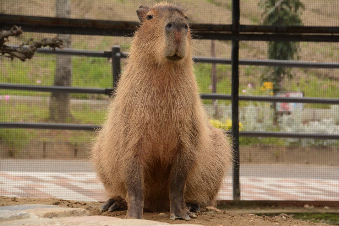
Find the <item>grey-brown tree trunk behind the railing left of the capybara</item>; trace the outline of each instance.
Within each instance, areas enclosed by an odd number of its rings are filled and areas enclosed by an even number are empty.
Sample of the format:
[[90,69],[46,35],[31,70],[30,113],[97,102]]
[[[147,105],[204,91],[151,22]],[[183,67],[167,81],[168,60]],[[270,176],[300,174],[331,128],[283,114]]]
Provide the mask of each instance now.
[[[56,1],[56,17],[71,17],[71,0]],[[58,35],[63,40],[64,48],[71,48],[71,35]],[[57,55],[57,65],[54,77],[55,86],[71,86],[72,84],[72,56]],[[52,93],[49,103],[49,121],[66,122],[71,119],[69,93]]]

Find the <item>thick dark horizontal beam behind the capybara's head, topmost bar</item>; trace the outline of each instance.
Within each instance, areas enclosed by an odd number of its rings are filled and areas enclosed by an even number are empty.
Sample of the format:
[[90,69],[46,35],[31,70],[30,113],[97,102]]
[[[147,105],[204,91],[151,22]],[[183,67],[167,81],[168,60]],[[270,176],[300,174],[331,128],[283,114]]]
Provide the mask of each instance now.
[[[109,20],[87,20],[53,17],[35,17],[22,15],[0,14],[0,29],[10,29],[13,25],[22,26],[26,32],[53,33],[53,34],[73,34],[73,35],[103,35],[103,36],[133,36],[139,23],[126,21]],[[333,35],[338,27],[319,29],[319,27],[300,27],[304,33],[316,33],[328,35],[297,35],[297,34],[253,34],[250,32],[272,33],[287,30],[288,33],[297,32],[293,27],[269,27],[257,26],[248,27],[242,25],[242,30],[248,33],[232,34],[232,25],[218,24],[191,24],[193,38],[196,39],[216,39],[216,40],[247,40],[247,41],[313,41],[313,42],[339,42],[339,35]],[[253,26],[253,25],[252,25]],[[256,26],[256,25],[255,25]],[[200,29],[208,28],[208,29]]]

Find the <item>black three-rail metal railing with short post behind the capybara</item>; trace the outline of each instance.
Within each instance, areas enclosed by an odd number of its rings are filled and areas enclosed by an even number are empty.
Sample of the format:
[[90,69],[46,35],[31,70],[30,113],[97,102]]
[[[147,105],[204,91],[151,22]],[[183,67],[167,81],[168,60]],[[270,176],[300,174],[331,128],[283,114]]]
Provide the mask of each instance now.
[[[12,46],[17,47],[17,46]],[[121,58],[126,58],[127,54],[120,52],[120,46],[113,46],[112,51],[88,51],[77,49],[58,49],[40,48],[37,53],[60,54],[86,57],[112,58],[113,87],[119,80],[121,72]],[[193,57],[197,63],[217,63],[231,64],[231,59],[215,57]],[[241,60],[239,65],[260,65],[260,66],[294,66],[294,67],[312,67],[312,68],[339,68],[339,63],[313,63],[292,60]],[[40,86],[13,83],[0,83],[0,89],[29,90],[39,92],[67,92],[67,93],[87,93],[112,95],[114,88],[86,88],[86,87],[66,87],[66,86]],[[214,100],[232,100],[232,95],[228,94],[200,94],[201,99]],[[238,96],[239,101],[266,101],[266,102],[286,102],[286,103],[321,103],[321,104],[339,104],[339,99],[331,98],[305,98],[305,97],[277,97],[277,96]],[[26,123],[26,122],[0,122],[0,128],[37,128],[37,129],[74,129],[74,130],[93,130],[100,128],[99,125],[82,125],[67,123]],[[321,134],[300,134],[300,133],[280,133],[280,132],[253,132],[240,131],[239,136],[246,137],[293,137],[293,138],[317,138],[317,139],[339,139],[339,135],[321,135]]]

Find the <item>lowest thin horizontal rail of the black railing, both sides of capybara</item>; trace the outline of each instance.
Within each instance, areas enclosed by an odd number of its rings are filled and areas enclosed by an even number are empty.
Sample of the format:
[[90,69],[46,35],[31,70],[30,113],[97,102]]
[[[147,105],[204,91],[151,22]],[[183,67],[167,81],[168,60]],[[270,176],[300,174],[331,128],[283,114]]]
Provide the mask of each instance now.
[[[22,128],[22,129],[69,129],[69,130],[95,130],[100,129],[100,125],[72,124],[72,123],[26,123],[26,122],[0,122],[0,128]],[[226,131],[230,134],[230,131]],[[240,131],[241,137],[278,137],[278,138],[310,138],[338,140],[339,134],[321,133],[285,133],[285,132],[256,132]]]

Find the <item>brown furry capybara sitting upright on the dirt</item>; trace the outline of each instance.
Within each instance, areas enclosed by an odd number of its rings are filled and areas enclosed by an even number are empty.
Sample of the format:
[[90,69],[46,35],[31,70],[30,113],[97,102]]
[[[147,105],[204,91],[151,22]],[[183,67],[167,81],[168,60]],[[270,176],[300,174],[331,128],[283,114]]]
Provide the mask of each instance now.
[[192,38],[180,6],[140,6],[129,50],[92,161],[108,200],[101,211],[127,205],[196,218],[213,205],[231,162],[231,145],[210,125],[193,73]]

